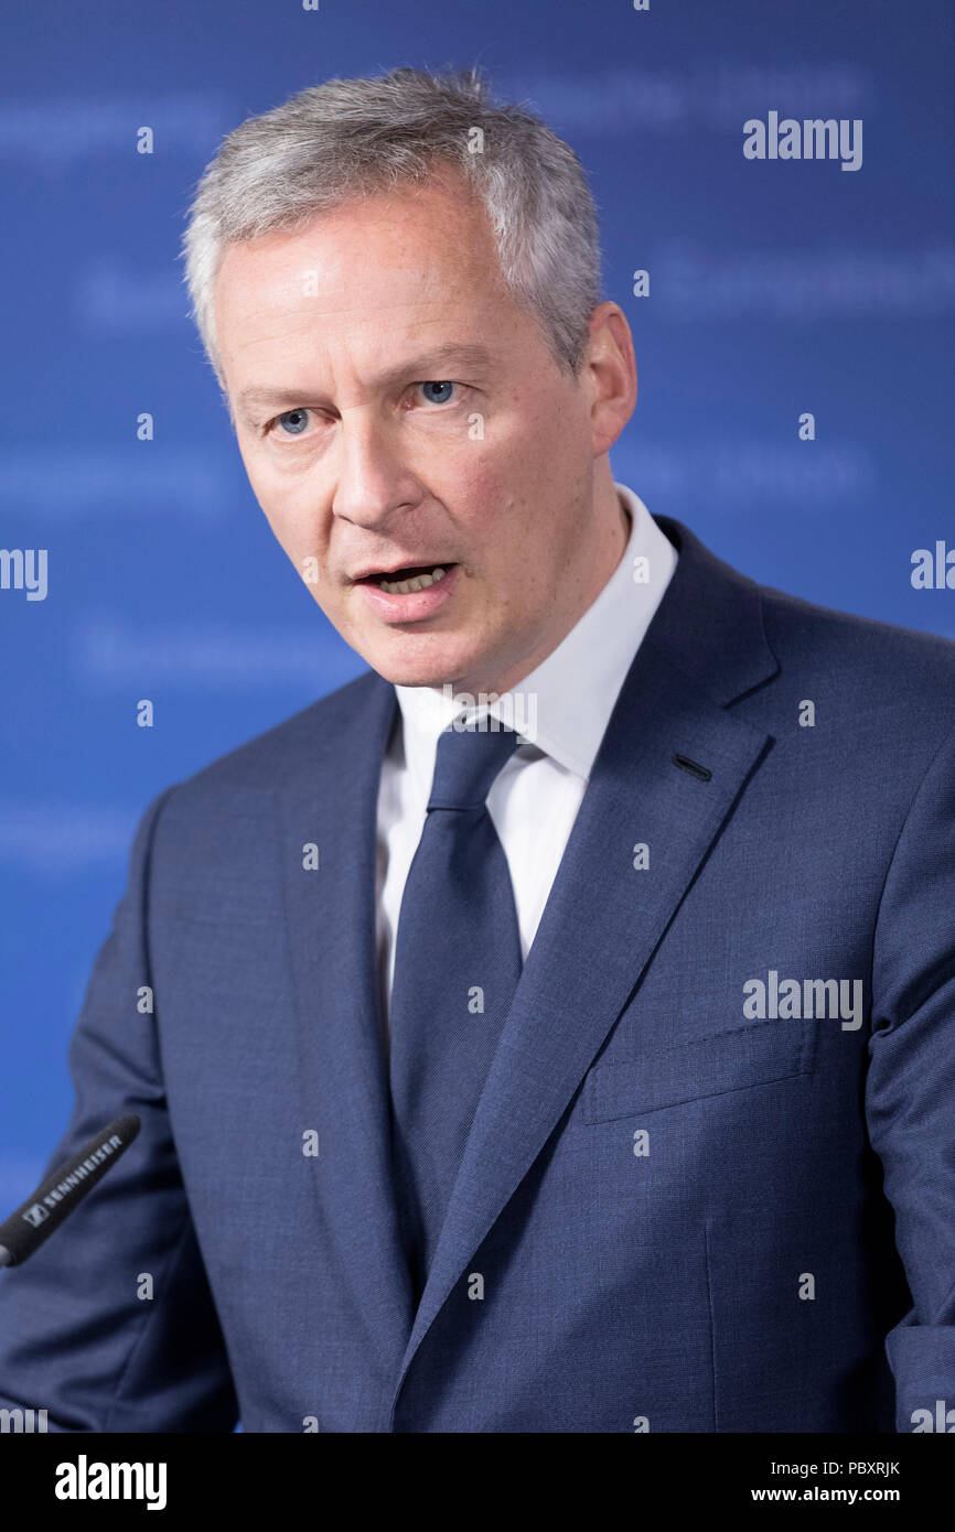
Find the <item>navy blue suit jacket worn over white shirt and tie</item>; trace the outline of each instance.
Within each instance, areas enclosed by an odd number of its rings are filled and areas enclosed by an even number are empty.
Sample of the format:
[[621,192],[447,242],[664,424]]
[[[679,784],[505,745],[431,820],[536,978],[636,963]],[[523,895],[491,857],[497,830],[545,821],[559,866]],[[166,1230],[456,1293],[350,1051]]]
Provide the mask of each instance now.
[[420,1305],[374,953],[395,697],[368,673],[146,812],[51,1166],[120,1112],[143,1131],[0,1275],[0,1403],[294,1432],[909,1431],[955,1406],[955,645],[659,524],[679,564]]

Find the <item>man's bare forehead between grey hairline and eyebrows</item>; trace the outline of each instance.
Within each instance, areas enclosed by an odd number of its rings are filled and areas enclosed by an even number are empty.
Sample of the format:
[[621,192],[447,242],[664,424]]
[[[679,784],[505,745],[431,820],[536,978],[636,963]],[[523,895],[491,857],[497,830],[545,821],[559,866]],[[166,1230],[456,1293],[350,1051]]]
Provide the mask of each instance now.
[[487,213],[457,175],[354,198],[296,230],[231,245],[215,288],[227,369],[302,343],[432,340],[464,316],[494,343],[515,308]]

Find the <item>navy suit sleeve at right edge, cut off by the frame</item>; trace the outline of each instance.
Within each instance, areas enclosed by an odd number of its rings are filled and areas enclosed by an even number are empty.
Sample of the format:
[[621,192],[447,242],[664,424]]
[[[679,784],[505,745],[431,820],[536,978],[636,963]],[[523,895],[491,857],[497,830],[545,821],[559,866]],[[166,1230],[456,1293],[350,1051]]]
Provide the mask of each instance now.
[[912,1295],[886,1354],[895,1429],[912,1431],[914,1413],[935,1420],[938,1400],[955,1411],[955,734],[926,772],[892,856],[872,1002],[866,1118]]

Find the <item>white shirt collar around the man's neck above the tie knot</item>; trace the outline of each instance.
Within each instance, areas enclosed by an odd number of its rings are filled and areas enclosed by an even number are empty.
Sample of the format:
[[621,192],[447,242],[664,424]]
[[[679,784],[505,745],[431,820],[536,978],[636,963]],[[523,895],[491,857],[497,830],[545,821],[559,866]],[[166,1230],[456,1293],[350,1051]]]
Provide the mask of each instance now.
[[471,699],[451,688],[395,686],[405,761],[425,794],[438,735],[463,712],[497,715],[589,780],[613,703],[676,567],[676,550],[642,499],[625,484],[615,489],[632,522],[624,555],[596,601],[537,669],[483,706],[468,705]]

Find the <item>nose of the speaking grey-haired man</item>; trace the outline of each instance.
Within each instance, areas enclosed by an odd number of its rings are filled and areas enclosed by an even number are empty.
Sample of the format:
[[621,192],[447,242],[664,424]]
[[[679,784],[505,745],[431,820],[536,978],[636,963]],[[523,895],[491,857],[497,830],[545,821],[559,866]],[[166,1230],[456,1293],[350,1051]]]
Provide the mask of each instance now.
[[342,521],[386,532],[394,516],[420,504],[420,481],[371,409],[356,406],[342,412],[336,452],[339,473],[331,509]]

